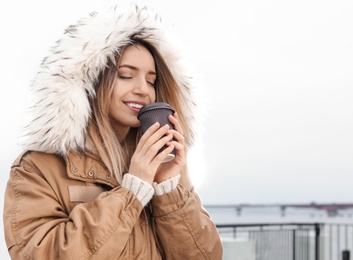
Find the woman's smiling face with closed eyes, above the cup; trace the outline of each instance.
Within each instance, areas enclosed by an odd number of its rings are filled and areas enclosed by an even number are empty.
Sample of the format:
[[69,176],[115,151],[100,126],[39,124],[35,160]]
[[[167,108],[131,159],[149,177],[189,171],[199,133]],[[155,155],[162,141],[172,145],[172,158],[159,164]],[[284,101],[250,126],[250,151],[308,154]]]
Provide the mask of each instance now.
[[130,127],[140,125],[137,114],[141,107],[155,102],[155,81],[156,69],[151,53],[139,44],[128,46],[117,64],[109,107],[118,137],[124,137]]

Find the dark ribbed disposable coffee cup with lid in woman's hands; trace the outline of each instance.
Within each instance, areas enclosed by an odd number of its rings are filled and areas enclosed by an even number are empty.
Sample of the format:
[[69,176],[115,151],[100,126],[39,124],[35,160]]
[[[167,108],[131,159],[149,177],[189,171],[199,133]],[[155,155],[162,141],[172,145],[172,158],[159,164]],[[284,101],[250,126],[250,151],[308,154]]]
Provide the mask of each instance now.
[[[141,123],[142,134],[144,134],[146,130],[156,122],[159,122],[159,125],[161,127],[168,124],[170,126],[170,129],[174,129],[173,124],[170,123],[168,119],[169,115],[173,115],[174,112],[174,109],[169,104],[164,102],[156,102],[142,107],[137,115],[137,118]],[[165,148],[167,148],[166,145],[164,145],[158,151],[158,153],[163,151]],[[174,158],[175,149],[170,154],[168,154],[163,163],[170,162]]]

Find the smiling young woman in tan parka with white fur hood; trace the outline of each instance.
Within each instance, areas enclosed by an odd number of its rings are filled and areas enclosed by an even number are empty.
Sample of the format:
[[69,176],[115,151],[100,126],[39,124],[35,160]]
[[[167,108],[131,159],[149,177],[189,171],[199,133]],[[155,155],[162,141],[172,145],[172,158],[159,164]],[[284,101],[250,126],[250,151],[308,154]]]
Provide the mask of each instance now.
[[[188,176],[195,105],[178,57],[146,8],[67,29],[34,81],[5,193],[13,259],[222,258]],[[137,114],[156,101],[177,111],[174,129],[156,123],[141,135]]]

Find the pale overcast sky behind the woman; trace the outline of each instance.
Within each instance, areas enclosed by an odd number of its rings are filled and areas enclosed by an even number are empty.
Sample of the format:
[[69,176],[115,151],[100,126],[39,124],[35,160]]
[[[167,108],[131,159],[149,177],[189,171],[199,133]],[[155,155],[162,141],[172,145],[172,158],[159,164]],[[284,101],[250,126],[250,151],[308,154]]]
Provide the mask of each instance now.
[[[1,2],[1,196],[42,58],[106,2]],[[205,204],[353,202],[353,1],[139,2],[174,24],[208,96],[190,160]]]

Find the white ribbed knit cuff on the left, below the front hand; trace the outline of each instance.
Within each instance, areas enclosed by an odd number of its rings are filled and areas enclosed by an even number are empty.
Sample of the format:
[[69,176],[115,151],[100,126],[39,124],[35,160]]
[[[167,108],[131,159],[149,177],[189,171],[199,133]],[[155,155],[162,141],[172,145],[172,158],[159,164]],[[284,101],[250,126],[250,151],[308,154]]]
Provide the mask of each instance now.
[[130,189],[143,206],[147,205],[154,194],[154,189],[148,182],[129,173],[124,174],[121,186]]

